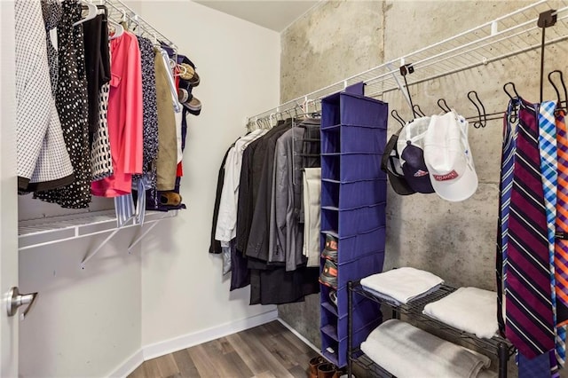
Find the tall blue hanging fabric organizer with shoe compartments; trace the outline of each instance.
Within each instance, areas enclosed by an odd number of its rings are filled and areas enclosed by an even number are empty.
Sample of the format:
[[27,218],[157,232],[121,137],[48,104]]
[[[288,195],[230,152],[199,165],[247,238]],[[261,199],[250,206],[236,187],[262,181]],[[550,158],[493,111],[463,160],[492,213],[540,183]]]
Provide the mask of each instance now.
[[[321,249],[327,234],[338,239],[337,307],[329,299],[331,287],[321,285],[321,349],[345,366],[347,282],[383,271],[387,179],[381,158],[389,110],[364,96],[363,83],[321,104]],[[353,345],[359,345],[382,322],[380,306],[360,297],[353,315]]]

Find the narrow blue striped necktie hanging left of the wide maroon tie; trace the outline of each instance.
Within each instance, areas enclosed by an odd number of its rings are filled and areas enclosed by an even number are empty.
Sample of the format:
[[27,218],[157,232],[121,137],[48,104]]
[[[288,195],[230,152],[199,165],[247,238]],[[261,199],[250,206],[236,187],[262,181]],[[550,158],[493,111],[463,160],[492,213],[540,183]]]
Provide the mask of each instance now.
[[509,240],[509,207],[513,188],[513,166],[515,162],[515,130],[510,124],[510,114],[518,98],[511,98],[503,118],[503,145],[501,149],[501,179],[499,182],[499,221],[497,230],[497,255],[495,272],[497,278],[497,321],[501,335],[505,335],[503,322],[503,283],[507,281],[507,242]]

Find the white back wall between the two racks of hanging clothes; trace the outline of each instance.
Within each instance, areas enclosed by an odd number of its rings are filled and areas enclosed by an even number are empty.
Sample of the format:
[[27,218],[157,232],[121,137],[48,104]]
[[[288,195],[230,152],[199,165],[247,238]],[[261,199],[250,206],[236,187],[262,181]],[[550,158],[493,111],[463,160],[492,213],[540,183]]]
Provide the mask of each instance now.
[[[245,319],[248,288],[229,293],[221,256],[209,255],[217,174],[245,118],[278,104],[280,35],[193,2],[144,1],[142,16],[192,59],[201,115],[189,116],[181,195],[187,209],[159,224],[142,251],[142,344]],[[170,235],[170,236],[168,236]]]

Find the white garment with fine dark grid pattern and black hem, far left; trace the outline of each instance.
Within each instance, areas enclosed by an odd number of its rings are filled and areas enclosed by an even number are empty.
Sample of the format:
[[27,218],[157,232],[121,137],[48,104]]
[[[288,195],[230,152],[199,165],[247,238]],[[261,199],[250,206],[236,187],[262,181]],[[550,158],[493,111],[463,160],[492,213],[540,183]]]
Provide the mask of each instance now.
[[14,5],[18,190],[68,185],[75,176],[51,92],[42,7],[25,0]]

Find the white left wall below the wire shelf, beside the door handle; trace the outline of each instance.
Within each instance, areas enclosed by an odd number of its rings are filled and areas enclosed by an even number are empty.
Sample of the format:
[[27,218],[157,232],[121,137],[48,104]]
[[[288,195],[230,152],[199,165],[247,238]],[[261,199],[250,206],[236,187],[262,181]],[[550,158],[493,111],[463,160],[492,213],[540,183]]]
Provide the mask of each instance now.
[[114,235],[85,270],[106,234],[20,251],[20,289],[39,292],[20,323],[20,376],[107,376],[140,349],[140,248],[127,253],[135,232]]

